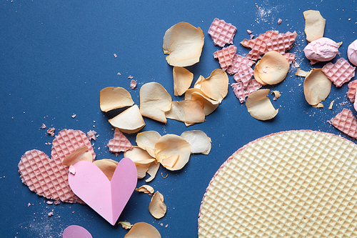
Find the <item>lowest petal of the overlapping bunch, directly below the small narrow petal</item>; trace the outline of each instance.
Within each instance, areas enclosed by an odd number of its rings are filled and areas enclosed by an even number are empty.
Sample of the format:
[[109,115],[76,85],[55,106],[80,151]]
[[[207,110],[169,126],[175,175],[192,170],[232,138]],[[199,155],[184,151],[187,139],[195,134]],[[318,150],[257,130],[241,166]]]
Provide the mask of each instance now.
[[166,112],[166,118],[185,122],[186,126],[204,122],[203,103],[192,100],[173,101],[171,110]]

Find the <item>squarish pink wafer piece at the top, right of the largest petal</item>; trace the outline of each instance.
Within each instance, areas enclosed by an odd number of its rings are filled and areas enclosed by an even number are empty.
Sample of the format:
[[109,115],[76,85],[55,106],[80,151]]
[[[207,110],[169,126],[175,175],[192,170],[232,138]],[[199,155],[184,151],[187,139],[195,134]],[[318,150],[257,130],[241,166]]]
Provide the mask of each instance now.
[[236,34],[236,26],[220,19],[214,19],[208,29],[213,44],[223,47],[225,44],[233,44],[233,37]]

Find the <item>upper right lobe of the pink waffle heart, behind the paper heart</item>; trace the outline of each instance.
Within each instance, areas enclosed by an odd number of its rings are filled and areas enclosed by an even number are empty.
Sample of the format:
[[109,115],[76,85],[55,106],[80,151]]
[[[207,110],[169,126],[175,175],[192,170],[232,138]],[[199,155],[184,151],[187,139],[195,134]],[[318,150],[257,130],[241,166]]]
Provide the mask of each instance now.
[[96,153],[94,152],[91,142],[84,132],[72,129],[63,129],[59,134],[54,137],[52,142],[51,158],[59,158],[61,162],[64,158],[74,152],[79,147],[88,147],[93,156],[93,160],[96,159]]

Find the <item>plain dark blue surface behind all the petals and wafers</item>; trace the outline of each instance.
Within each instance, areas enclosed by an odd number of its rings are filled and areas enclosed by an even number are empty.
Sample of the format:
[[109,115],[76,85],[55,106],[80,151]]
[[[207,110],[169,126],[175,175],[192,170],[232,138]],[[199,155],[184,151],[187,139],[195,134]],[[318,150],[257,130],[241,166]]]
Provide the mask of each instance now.
[[[357,38],[356,1],[282,2],[1,0],[1,237],[61,237],[71,224],[86,228],[93,237],[124,237],[125,229],[118,225],[112,227],[86,205],[46,204],[47,199],[21,183],[17,164],[31,149],[51,154],[51,145],[45,143],[52,142],[53,138],[46,130],[39,129],[43,123],[55,127],[56,134],[65,128],[83,132],[94,129],[99,134],[94,142],[97,159],[121,159],[123,154],[116,157],[106,147],[114,134],[108,119],[120,110],[103,113],[99,108],[99,91],[106,86],[122,86],[139,104],[140,86],[156,81],[169,91],[173,100],[182,100],[183,97],[173,96],[172,67],[166,63],[162,51],[165,31],[174,24],[187,21],[199,26],[205,35],[201,60],[188,67],[194,75],[193,83],[199,75],[207,77],[219,68],[212,54],[221,48],[213,45],[207,33],[214,18],[237,27],[233,44],[241,55],[248,53],[248,49],[239,44],[249,37],[247,29],[255,36],[268,30],[296,31],[298,36],[289,52],[295,53],[301,69],[308,71],[311,65],[303,55],[307,44],[303,11],[318,10],[326,19],[324,36],[343,41],[339,51],[341,57],[347,59],[347,47]],[[280,25],[277,24],[279,18],[283,20]],[[114,58],[113,54],[118,57]],[[121,75],[117,75],[118,72]],[[148,222],[162,237],[197,237],[198,211],[208,182],[238,148],[267,134],[292,129],[313,129],[346,137],[327,121],[343,108],[356,113],[346,97],[347,84],[341,88],[333,85],[323,103],[325,108],[315,109],[306,103],[303,78],[295,73],[296,68],[291,66],[283,82],[265,87],[281,91],[281,98],[272,101],[273,106],[279,108],[278,115],[268,122],[253,119],[231,87],[226,99],[202,124],[187,128],[171,119],[161,124],[145,118],[143,130],[155,130],[161,135],[203,130],[212,139],[211,153],[208,156],[193,154],[178,172],[159,169],[149,184],[164,195],[168,208],[164,218],[154,219],[149,214],[151,197],[134,192],[119,221]],[[134,90],[129,87],[129,75],[138,82]],[[229,81],[234,82],[232,76]],[[330,110],[328,105],[333,100],[336,101]],[[72,119],[72,114],[76,114],[76,118]],[[136,144],[136,134],[127,136]],[[168,177],[161,177],[161,172]],[[138,186],[141,184],[145,184],[143,179]],[[54,216],[48,217],[52,211]]]

